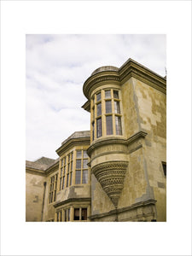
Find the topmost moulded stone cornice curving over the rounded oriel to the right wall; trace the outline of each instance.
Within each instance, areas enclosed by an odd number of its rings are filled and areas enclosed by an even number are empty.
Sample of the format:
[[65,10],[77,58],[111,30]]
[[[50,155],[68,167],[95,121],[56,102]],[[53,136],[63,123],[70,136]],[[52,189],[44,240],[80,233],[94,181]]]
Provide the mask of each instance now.
[[84,82],[84,96],[90,100],[90,94],[96,87],[102,84],[124,84],[125,81],[131,77],[166,94],[166,78],[154,73],[152,70],[148,69],[148,67],[144,67],[137,61],[129,59],[125,64],[119,67],[118,71],[110,69],[102,71],[101,69],[101,72],[92,74],[90,78]]

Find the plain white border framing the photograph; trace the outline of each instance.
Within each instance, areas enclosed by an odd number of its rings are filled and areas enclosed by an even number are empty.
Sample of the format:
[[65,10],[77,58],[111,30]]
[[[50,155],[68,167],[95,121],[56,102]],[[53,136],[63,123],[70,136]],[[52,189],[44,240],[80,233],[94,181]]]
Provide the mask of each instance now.
[[[190,2],[3,1],[3,255],[189,255],[191,253]],[[26,33],[167,35],[167,223],[25,222]]]

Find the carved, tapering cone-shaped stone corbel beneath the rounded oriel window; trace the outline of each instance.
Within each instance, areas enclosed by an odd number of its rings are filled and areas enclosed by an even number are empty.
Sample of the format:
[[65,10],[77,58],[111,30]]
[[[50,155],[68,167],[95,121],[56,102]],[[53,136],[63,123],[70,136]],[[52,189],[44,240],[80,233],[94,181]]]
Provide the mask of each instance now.
[[114,207],[117,207],[119,195],[124,187],[127,166],[127,161],[108,161],[92,167],[92,172],[113,202]]

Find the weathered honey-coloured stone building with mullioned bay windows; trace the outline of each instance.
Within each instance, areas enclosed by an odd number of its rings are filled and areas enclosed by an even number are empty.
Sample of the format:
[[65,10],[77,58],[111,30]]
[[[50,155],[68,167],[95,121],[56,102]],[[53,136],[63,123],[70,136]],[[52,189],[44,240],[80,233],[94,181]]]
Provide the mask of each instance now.
[[166,221],[166,78],[129,59],[83,91],[90,131],[26,161],[26,221]]

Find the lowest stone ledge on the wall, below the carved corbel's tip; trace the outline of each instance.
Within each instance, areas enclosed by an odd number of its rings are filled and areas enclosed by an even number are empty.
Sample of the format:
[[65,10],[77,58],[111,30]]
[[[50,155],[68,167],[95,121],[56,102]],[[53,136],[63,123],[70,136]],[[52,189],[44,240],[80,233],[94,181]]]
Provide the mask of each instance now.
[[119,209],[114,209],[110,212],[103,212],[103,213],[100,213],[100,214],[91,215],[90,219],[108,217],[110,215],[115,215],[117,213],[131,211],[131,210],[134,210],[138,207],[146,207],[146,206],[150,206],[150,205],[155,205],[155,203],[156,203],[156,200],[154,200],[154,199],[150,199],[148,201],[140,201],[140,202],[137,202],[135,204],[132,204],[129,207],[123,207],[123,208],[119,208]]

